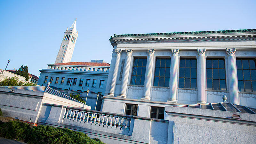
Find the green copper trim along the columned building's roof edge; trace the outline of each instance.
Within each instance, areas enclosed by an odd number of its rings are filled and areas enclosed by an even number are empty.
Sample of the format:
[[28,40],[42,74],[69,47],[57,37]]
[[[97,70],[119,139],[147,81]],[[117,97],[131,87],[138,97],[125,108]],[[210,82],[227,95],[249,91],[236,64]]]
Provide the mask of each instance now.
[[[216,31],[192,31],[192,32],[174,32],[174,33],[152,33],[152,34],[126,34],[116,35],[113,37],[128,37],[128,36],[171,36],[171,35],[199,35],[199,34],[225,34],[225,33],[243,33],[256,32],[256,29],[239,29],[239,30],[216,30]],[[112,38],[112,36],[111,36]],[[110,39],[111,39],[110,38]]]

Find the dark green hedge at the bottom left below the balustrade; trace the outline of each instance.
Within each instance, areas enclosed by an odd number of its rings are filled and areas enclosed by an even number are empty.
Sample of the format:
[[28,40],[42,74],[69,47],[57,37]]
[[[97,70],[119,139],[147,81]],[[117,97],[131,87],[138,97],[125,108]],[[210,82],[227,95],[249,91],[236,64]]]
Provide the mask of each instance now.
[[8,123],[0,121],[0,137],[39,144],[103,144],[99,139],[93,140],[82,132],[45,125],[32,127],[19,120]]

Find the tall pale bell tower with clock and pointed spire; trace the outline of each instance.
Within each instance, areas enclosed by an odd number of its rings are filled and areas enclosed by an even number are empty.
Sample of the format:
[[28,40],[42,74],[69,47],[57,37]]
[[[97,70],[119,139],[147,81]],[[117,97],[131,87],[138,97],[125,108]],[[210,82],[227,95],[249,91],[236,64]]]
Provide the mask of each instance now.
[[78,37],[78,31],[76,31],[76,20],[67,28],[64,33],[63,40],[60,44],[60,50],[58,52],[55,63],[65,63],[70,62],[74,48],[76,46],[76,39]]

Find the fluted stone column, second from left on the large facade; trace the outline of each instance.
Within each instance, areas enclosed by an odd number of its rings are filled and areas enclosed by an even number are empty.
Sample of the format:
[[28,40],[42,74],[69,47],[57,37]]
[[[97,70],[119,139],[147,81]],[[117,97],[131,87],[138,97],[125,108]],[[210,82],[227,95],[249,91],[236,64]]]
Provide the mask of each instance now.
[[128,83],[128,77],[130,72],[131,58],[132,58],[132,50],[125,50],[126,52],[126,62],[124,67],[124,78],[121,85],[121,94],[118,97],[126,97],[126,89]]

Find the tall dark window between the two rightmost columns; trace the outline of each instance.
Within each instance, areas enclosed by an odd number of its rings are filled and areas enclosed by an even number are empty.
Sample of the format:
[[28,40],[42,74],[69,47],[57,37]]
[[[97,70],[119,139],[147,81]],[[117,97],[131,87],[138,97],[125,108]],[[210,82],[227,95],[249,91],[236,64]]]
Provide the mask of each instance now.
[[226,91],[224,59],[206,59],[206,79],[208,90]]

